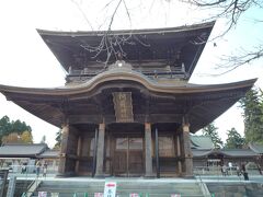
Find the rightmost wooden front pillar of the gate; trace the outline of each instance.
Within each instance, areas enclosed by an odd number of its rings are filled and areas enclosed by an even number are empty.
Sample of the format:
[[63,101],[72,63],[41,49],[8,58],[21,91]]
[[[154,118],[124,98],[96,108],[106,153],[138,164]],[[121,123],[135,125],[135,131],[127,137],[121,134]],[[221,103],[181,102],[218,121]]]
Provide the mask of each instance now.
[[185,120],[185,118],[183,119],[182,130],[185,176],[193,176],[193,155],[191,151],[190,124]]

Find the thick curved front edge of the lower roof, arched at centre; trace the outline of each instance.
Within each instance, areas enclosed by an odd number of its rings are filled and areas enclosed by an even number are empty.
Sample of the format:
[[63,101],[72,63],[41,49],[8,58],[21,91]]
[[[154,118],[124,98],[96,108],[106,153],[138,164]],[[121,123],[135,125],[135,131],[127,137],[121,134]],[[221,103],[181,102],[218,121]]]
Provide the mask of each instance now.
[[227,91],[237,88],[252,86],[256,79],[233,82],[233,83],[224,83],[224,84],[192,84],[186,83],[184,85],[175,85],[171,83],[158,83],[153,80],[150,80],[140,72],[136,72],[129,69],[113,69],[110,71],[102,72],[85,83],[81,83],[73,86],[61,86],[54,89],[35,89],[35,88],[19,88],[19,86],[8,86],[0,85],[1,92],[13,92],[13,93],[25,93],[25,94],[39,94],[39,95],[71,95],[79,94],[92,91],[101,83],[106,83],[110,81],[134,81],[138,82],[149,91],[160,92],[160,93],[171,93],[171,94],[190,94],[190,93],[205,93],[205,92],[215,92],[215,91]]

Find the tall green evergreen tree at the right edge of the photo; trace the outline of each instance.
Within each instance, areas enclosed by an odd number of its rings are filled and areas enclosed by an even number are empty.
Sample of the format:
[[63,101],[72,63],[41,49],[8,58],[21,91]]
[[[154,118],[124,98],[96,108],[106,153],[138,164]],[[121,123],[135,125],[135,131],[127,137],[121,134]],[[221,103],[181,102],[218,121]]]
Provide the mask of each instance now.
[[240,101],[244,117],[244,138],[263,144],[263,93],[256,89],[247,92]]

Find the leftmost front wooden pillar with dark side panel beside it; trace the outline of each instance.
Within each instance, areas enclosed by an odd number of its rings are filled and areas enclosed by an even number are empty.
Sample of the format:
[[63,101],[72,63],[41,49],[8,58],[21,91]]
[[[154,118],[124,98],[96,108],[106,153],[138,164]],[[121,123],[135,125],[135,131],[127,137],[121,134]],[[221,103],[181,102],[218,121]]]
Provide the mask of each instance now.
[[78,138],[76,130],[68,124],[62,125],[62,139],[57,176],[72,176],[76,174],[76,157]]

